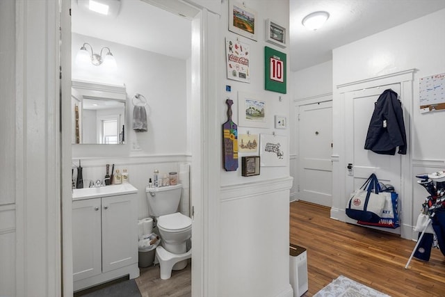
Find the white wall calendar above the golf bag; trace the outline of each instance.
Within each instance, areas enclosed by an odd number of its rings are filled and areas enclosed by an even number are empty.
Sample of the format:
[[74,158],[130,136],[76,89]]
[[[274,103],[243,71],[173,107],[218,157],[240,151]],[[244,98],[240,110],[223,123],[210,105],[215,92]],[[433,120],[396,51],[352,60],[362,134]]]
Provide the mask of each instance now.
[[419,79],[421,113],[445,110],[445,73]]

